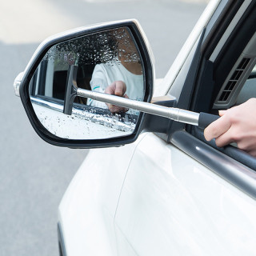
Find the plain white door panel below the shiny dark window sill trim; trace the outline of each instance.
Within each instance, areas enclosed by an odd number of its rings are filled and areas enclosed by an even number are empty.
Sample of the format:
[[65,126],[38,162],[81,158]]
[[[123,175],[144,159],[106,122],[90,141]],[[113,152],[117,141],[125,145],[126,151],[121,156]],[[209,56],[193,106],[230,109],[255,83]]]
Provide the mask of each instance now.
[[147,134],[122,187],[118,248],[120,255],[254,255],[255,214],[253,198]]

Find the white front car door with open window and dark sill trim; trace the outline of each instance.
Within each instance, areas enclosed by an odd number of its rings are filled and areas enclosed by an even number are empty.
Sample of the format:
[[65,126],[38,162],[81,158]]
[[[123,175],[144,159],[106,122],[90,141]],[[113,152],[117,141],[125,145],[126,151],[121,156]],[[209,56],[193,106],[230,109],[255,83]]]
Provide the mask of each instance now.
[[[254,1],[219,2],[163,81],[178,107],[218,114],[255,95],[255,12]],[[118,201],[118,253],[254,255],[255,170],[255,158],[206,142],[198,127],[170,123],[166,134],[146,134]]]

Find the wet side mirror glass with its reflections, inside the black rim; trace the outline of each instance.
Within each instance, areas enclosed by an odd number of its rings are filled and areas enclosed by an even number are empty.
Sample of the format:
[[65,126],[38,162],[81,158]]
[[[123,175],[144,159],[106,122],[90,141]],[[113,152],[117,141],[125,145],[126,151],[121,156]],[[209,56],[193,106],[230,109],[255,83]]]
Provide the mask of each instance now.
[[51,47],[29,90],[39,121],[59,138],[103,139],[132,134],[137,110],[75,97],[70,114],[63,113],[71,66],[76,68],[73,84],[78,88],[142,101],[143,66],[130,30],[106,30]]

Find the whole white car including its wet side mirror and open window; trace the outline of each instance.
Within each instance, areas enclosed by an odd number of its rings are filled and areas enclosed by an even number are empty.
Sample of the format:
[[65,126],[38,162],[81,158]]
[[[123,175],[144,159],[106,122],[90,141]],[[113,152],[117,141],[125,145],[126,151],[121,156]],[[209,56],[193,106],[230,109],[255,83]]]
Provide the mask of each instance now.
[[[135,20],[42,42],[14,82],[32,126],[56,146],[101,148],[60,203],[60,255],[255,255],[256,159],[203,136],[218,110],[256,96],[255,63],[253,0],[212,0],[155,88]],[[138,80],[128,98],[104,94],[114,68],[127,92]]]

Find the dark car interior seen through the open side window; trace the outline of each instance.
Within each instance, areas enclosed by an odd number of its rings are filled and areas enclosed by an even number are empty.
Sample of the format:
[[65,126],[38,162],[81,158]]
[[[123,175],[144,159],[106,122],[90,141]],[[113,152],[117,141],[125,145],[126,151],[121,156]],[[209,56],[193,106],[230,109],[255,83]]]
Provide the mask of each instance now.
[[[201,68],[194,84],[190,110],[218,114],[218,110],[229,109],[256,97],[256,8],[252,2],[240,18],[238,9],[242,8],[241,5],[231,2],[223,10],[223,21],[216,23],[202,42]],[[233,22],[233,18],[239,18],[239,22]],[[203,130],[198,127],[187,130],[206,142]],[[213,141],[206,143],[256,170],[256,159],[236,145],[218,148]]]

